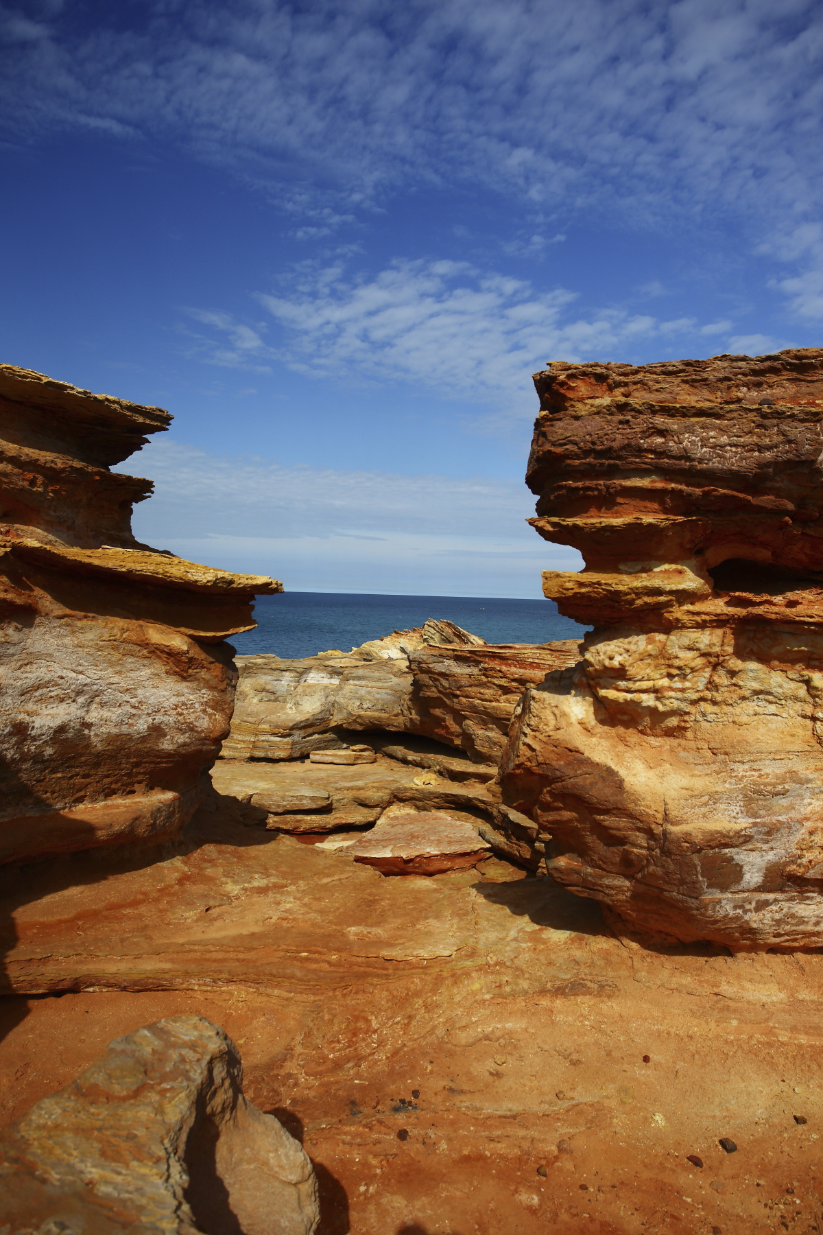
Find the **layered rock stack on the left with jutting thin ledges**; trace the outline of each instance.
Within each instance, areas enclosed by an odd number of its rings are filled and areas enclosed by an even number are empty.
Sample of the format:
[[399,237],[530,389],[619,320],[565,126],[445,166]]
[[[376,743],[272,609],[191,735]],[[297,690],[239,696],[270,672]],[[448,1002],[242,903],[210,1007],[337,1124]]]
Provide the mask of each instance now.
[[170,419],[0,366],[0,862],[178,831],[228,729],[223,640],[281,585],[134,540],[110,466]]

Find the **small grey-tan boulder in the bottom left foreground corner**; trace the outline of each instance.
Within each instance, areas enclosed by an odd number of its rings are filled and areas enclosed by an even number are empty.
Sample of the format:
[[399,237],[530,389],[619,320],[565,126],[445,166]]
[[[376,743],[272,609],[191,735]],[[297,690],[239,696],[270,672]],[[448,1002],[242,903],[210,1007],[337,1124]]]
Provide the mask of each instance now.
[[0,1135],[4,1229],[312,1235],[301,1145],[247,1102],[237,1047],[191,1014],[109,1050]]

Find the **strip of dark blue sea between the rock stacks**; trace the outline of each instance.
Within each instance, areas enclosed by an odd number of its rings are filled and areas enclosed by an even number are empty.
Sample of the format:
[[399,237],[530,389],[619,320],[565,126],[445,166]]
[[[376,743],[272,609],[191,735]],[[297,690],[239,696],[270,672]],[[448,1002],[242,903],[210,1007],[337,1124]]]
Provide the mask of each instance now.
[[487,643],[545,643],[582,638],[587,626],[561,618],[553,600],[501,600],[489,597],[380,597],[341,592],[284,592],[258,597],[257,630],[234,635],[241,656],[316,656],[329,648],[348,652],[392,630],[447,618]]

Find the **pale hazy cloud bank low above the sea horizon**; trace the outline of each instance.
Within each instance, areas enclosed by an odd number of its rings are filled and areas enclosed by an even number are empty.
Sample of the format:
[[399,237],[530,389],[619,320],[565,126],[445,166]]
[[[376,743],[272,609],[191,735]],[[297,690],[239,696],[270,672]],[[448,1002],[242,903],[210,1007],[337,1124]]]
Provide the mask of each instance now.
[[540,571],[581,566],[526,524],[521,482],[286,468],[163,440],[128,468],[155,482],[139,540],[291,590],[539,597]]

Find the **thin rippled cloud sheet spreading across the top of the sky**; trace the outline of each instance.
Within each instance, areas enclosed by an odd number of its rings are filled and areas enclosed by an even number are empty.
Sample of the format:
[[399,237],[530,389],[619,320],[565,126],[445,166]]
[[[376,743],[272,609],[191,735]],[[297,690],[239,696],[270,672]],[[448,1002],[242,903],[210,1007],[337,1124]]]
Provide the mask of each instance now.
[[176,140],[299,209],[308,193],[331,211],[317,227],[334,225],[334,199],[347,214],[387,189],[455,180],[661,219],[726,204],[776,220],[817,200],[823,12],[812,0],[139,9],[126,27],[105,25],[104,9],[86,31],[9,10],[28,38],[5,70],[12,122],[43,131],[97,116]]

